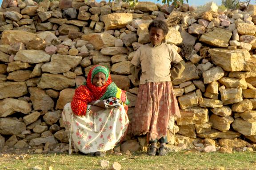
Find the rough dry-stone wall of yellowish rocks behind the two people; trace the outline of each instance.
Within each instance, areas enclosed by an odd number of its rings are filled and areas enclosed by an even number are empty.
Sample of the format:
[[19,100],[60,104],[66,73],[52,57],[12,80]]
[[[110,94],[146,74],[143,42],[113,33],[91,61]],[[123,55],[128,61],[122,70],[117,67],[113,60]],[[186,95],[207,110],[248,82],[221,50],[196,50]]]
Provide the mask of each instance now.
[[[149,2],[129,9],[122,2],[4,0],[0,148],[67,151],[62,109],[88,70],[99,63],[128,91],[132,119],[139,83],[131,75],[130,61],[149,42],[152,19],[166,19],[172,9]],[[200,9],[184,4],[177,11],[190,15],[170,27],[165,40],[186,61],[184,73],[173,81],[182,117],[169,131],[170,143],[199,151],[253,147],[256,6],[218,12],[214,3]],[[145,138],[131,140],[127,135],[125,140],[123,151],[145,149]]]

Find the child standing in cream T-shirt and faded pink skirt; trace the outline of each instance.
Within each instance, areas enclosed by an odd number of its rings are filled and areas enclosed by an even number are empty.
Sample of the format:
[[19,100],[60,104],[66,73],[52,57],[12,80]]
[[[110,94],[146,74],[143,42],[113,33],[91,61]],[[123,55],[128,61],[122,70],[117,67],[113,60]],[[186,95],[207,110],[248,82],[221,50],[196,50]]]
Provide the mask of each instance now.
[[148,31],[151,43],[140,46],[131,61],[132,74],[140,80],[131,127],[133,135],[148,135],[151,143],[148,155],[156,155],[159,140],[158,155],[163,156],[167,154],[169,120],[175,115],[180,117],[171,81],[184,71],[185,62],[170,44],[162,42],[168,33],[164,21],[152,21]]

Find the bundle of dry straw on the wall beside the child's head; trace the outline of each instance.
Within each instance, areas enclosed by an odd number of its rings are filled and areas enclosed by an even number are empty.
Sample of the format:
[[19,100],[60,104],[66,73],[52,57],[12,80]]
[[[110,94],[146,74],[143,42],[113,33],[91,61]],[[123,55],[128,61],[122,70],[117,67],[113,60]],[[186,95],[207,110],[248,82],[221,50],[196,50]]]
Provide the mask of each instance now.
[[180,24],[181,20],[190,15],[190,13],[180,12],[180,11],[172,11],[168,18],[166,19],[166,23],[169,27],[174,27],[175,25]]

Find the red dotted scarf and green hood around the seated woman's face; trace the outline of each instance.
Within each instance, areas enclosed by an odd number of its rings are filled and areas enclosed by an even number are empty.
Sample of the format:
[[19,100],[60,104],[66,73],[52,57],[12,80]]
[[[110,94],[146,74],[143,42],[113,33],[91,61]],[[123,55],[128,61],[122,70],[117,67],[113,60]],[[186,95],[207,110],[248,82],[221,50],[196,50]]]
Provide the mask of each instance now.
[[[80,85],[71,102],[71,108],[74,114],[81,116],[86,115],[87,105],[93,100],[99,100],[106,92],[108,85],[112,83],[109,71],[105,66],[96,65],[88,73],[86,85]],[[103,72],[106,75],[106,83],[102,87],[92,85],[92,76],[96,73]]]

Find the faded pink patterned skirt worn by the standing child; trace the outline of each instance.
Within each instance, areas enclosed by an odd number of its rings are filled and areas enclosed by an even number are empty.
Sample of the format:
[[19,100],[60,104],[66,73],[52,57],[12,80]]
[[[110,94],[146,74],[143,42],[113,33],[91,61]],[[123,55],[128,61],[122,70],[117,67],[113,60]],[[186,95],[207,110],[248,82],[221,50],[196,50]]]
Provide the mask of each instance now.
[[132,115],[132,134],[149,135],[149,140],[167,135],[170,116],[180,117],[172,82],[140,84],[135,111]]

